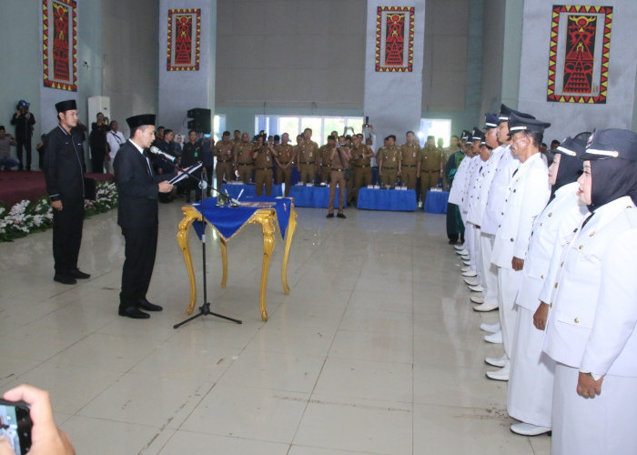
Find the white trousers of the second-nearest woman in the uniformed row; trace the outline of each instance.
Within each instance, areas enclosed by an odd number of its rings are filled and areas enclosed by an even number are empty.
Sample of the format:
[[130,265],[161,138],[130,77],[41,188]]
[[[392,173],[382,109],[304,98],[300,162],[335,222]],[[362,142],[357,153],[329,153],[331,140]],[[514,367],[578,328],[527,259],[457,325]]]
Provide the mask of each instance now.
[[541,350],[544,331],[533,326],[534,312],[519,305],[514,311],[516,329],[507,411],[513,419],[551,428],[555,362]]

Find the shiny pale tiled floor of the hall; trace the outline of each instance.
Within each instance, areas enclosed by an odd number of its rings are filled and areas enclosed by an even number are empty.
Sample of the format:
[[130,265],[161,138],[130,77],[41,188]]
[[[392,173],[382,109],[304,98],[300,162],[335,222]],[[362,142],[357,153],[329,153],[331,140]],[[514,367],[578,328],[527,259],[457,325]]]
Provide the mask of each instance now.
[[0,244],[0,389],[50,390],[78,453],[549,453],[550,438],[510,432],[506,384],[484,377],[501,351],[479,325],[497,314],[471,310],[445,218],[346,213],[298,208],[291,292],[278,238],[267,323],[255,226],[228,244],[225,289],[217,241],[207,246],[213,310],[244,323],[177,330],[188,300],[177,203],[160,207],[148,298],[165,310],[148,320],[116,315],[116,211],[86,220],[80,267],[92,278],[76,286],[52,280],[50,230]]

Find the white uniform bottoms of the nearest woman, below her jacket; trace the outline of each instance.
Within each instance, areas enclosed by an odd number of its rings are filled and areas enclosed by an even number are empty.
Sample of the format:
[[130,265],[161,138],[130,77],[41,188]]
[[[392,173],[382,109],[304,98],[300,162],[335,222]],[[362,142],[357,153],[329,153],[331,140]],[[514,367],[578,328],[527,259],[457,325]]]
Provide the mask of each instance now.
[[555,366],[552,455],[637,453],[637,378],[607,375],[593,399],[577,394],[579,371]]

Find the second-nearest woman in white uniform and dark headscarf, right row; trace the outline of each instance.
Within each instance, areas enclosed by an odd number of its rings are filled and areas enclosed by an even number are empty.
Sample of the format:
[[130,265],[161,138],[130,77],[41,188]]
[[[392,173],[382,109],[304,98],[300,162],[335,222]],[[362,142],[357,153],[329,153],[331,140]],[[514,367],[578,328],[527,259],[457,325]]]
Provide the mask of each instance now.
[[[511,431],[524,436],[537,436],[551,431],[554,362],[541,351],[548,305],[540,302],[542,284],[548,277],[553,246],[562,245],[581,219],[589,212],[578,195],[581,156],[586,147],[584,138],[567,137],[558,147],[549,167],[551,199],[533,224],[527,258],[516,298],[516,330],[511,356],[511,376],[507,410],[520,423]],[[539,308],[540,307],[540,308]],[[539,328],[533,325],[533,315],[544,314]],[[539,316],[541,318],[541,316]]]

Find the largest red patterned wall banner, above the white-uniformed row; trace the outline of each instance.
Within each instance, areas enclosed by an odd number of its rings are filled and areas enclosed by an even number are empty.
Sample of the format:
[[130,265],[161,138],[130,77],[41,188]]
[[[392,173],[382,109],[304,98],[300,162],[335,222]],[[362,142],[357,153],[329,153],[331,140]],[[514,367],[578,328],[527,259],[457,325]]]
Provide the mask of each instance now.
[[604,104],[612,6],[553,5],[548,101]]

